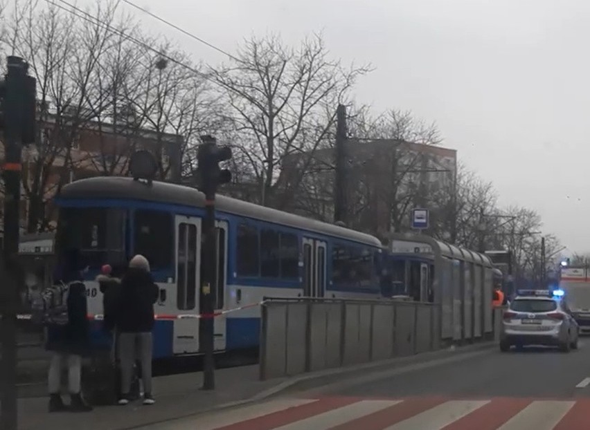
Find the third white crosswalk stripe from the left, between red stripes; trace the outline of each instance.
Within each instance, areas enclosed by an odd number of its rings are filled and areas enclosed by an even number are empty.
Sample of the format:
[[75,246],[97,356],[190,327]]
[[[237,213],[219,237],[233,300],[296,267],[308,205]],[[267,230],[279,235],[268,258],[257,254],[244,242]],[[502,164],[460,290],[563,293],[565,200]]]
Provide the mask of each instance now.
[[393,424],[393,426],[384,430],[440,430],[488,403],[490,403],[490,400],[452,400],[434,406],[432,409],[419,413],[413,418]]

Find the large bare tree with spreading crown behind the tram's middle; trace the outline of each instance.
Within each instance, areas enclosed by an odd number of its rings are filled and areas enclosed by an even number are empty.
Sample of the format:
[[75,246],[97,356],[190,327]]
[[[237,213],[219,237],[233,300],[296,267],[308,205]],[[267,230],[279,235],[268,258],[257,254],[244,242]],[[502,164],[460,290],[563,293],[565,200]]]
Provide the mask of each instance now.
[[[321,35],[308,37],[298,48],[285,46],[274,35],[251,37],[229,65],[212,70],[240,136],[234,147],[249,161],[269,202],[287,204],[287,190],[275,192],[283,160],[294,153],[313,153],[326,141],[338,103],[368,71],[368,66],[346,68],[330,59]],[[305,174],[303,165],[298,180],[290,184],[297,187]]]

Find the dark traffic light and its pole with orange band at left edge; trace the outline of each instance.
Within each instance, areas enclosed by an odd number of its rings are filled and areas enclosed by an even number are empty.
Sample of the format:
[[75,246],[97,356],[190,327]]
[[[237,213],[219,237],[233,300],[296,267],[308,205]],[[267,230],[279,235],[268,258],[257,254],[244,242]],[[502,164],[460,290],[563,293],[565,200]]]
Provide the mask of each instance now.
[[19,300],[21,149],[35,141],[36,82],[27,75],[28,64],[8,57],[8,73],[0,82],[0,127],[3,131],[4,219],[0,283],[2,362],[0,364],[0,429],[17,430],[17,306]]

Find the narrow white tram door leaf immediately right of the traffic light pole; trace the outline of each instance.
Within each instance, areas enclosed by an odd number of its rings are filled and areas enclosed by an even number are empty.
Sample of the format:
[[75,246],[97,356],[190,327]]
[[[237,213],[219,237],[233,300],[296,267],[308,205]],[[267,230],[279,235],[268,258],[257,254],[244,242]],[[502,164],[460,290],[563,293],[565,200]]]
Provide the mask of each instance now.
[[[217,240],[217,259],[215,268],[217,270],[217,283],[211,286],[214,295],[215,310],[223,310],[226,306],[226,273],[227,273],[227,223],[215,221]],[[215,318],[214,332],[215,350],[224,350],[226,346],[226,316],[220,315]]]

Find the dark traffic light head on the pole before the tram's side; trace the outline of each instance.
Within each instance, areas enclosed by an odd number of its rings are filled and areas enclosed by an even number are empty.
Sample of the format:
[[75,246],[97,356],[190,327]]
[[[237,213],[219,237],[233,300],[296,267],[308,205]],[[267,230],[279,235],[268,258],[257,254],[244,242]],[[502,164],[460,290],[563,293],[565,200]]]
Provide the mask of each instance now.
[[210,135],[202,136],[201,140],[203,143],[199,145],[197,155],[199,189],[206,198],[213,200],[217,187],[231,181],[231,171],[220,167],[220,162],[231,159],[231,148],[218,147],[215,138]]

